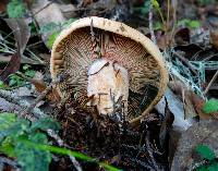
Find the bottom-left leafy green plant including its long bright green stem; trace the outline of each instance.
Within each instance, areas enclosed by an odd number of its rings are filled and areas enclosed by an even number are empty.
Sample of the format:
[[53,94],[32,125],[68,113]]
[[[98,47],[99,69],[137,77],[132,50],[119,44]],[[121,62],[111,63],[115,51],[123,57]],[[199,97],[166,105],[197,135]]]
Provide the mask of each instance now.
[[[24,171],[48,171],[51,152],[97,162],[84,154],[49,145],[45,132],[48,129],[60,130],[59,123],[51,118],[29,122],[16,118],[14,113],[0,113],[0,154],[15,158]],[[110,171],[119,171],[105,162],[97,163]]]

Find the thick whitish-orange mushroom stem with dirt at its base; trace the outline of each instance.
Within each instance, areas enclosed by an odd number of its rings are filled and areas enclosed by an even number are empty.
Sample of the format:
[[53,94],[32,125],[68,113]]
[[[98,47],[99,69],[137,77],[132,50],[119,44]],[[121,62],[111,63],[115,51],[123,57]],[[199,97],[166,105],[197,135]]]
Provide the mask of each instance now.
[[87,96],[89,106],[101,114],[128,113],[128,71],[114,61],[98,59],[88,70]]

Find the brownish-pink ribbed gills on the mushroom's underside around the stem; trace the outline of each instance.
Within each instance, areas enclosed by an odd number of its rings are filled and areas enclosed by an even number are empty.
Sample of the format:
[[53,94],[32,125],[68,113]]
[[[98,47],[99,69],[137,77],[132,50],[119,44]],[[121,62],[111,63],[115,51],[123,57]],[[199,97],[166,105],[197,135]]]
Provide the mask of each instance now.
[[[68,72],[68,78],[59,84],[61,97],[72,95],[84,107],[88,99],[88,70],[92,64],[106,59],[117,63],[128,72],[129,97],[128,120],[142,114],[158,94],[160,69],[157,61],[140,42],[122,35],[94,28],[73,30],[55,49],[55,76]],[[108,93],[109,94],[109,93]]]

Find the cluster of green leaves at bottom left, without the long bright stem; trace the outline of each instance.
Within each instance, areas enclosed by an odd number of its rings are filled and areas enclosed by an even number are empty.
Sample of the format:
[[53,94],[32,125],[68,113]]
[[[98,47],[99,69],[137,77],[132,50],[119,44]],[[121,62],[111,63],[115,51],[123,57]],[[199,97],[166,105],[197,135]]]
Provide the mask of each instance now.
[[17,159],[24,171],[47,171],[51,161],[48,150],[36,150],[22,141],[34,144],[48,144],[45,133],[47,129],[59,130],[59,124],[50,118],[36,122],[17,119],[14,113],[0,114],[0,151]]

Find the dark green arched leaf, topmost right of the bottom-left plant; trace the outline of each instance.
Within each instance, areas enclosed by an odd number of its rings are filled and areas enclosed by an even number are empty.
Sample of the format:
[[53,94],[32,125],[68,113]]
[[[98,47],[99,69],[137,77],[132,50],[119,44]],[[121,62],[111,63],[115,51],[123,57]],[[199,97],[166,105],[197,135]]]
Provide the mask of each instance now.
[[48,129],[59,131],[60,124],[51,118],[41,118],[32,123],[31,131],[34,132],[36,130],[47,131]]

